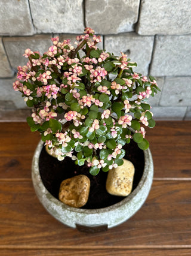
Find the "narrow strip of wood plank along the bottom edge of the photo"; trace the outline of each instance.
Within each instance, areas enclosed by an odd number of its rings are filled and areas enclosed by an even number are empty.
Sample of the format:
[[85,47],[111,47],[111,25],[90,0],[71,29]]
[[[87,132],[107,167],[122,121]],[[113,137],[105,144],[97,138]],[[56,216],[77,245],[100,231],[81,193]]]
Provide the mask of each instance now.
[[191,249],[2,249],[1,256],[190,256]]

